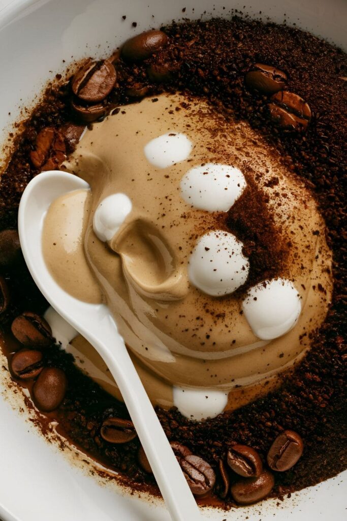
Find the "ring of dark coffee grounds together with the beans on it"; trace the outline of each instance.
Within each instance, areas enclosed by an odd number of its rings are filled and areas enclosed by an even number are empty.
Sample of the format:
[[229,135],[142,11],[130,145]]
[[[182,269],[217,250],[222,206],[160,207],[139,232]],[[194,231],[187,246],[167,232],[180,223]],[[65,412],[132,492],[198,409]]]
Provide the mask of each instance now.
[[[347,466],[346,55],[298,29],[233,17],[173,23],[104,58],[82,63],[69,82],[49,86],[23,123],[2,175],[0,323],[12,376],[29,388],[48,419],[58,421],[68,440],[134,488],[157,490],[124,404],[76,368],[59,346],[24,346],[22,335],[16,339],[11,332],[17,317],[17,326],[27,324],[25,317],[40,316],[47,306],[21,257],[17,210],[28,181],[46,167],[59,166],[84,125],[144,96],[153,95],[155,102],[163,91],[201,95],[226,116],[249,121],[315,194],[333,251],[333,301],[311,350],[275,392],[201,422],[175,409],[158,409],[158,416],[188,482],[194,473],[202,483],[195,489],[199,502],[229,508],[267,494],[282,499],[335,476]],[[100,78],[106,83],[101,98],[95,95]],[[226,222],[240,237],[247,218],[243,200],[263,217],[266,204],[255,187],[240,197]],[[254,281],[262,271],[274,276],[287,255],[271,219],[264,219],[260,223],[254,216],[248,223],[256,241],[242,235],[250,256],[258,248]]]

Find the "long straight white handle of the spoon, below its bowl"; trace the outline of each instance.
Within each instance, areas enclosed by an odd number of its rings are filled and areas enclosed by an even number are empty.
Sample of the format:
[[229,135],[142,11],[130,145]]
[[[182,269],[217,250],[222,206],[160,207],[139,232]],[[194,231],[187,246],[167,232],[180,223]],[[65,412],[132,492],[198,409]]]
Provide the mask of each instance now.
[[[86,335],[84,332],[84,336],[104,358],[117,382],[172,520],[198,521],[201,516],[194,496],[149,401],[124,341],[114,322],[112,327],[112,322],[110,317],[108,327],[102,328],[102,332],[100,329],[95,335]],[[114,348],[114,345],[117,345],[117,348]]]

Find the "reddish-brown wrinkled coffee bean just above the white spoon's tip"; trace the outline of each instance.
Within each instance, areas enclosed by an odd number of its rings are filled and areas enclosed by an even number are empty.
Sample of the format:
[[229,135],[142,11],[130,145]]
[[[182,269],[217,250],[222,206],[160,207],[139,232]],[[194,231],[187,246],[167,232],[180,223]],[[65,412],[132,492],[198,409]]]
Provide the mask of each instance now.
[[66,147],[61,133],[53,127],[42,129],[36,137],[35,150],[30,152],[30,159],[35,168],[54,170],[66,158]]

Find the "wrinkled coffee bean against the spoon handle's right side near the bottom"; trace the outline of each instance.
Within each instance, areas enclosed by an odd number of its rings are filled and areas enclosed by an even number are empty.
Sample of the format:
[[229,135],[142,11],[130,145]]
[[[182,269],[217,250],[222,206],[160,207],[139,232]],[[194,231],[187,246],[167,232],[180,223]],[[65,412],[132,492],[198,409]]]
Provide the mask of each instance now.
[[205,460],[195,456],[185,445],[176,441],[170,443],[175,453],[177,461],[183,470],[191,492],[195,495],[202,495],[209,492],[216,480],[216,475]]

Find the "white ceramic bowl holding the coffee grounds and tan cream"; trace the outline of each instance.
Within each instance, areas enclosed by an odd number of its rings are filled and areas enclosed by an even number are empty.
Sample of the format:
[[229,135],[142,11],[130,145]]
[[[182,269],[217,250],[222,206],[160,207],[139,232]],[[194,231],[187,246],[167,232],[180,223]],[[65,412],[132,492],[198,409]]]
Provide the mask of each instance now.
[[[30,106],[45,81],[66,63],[84,56],[103,56],[128,36],[185,15],[228,16],[229,8],[296,23],[347,47],[346,0],[0,0],[0,143],[6,140],[20,107]],[[227,9],[223,6],[227,5]],[[126,20],[122,16],[126,15]],[[132,27],[132,22],[137,27]],[[10,113],[10,115],[9,115]],[[2,361],[2,364],[4,361]],[[30,421],[21,393],[8,388],[0,373],[0,516],[3,521],[169,521],[158,501],[130,496],[106,480],[91,476],[69,446],[47,443]],[[322,448],[324,450],[324,448]],[[73,460],[73,462],[71,461]],[[295,519],[342,521],[345,494],[342,475],[318,487],[292,494],[279,506],[264,501],[229,513],[204,509],[214,520],[269,521]]]

